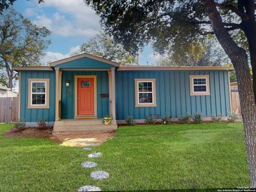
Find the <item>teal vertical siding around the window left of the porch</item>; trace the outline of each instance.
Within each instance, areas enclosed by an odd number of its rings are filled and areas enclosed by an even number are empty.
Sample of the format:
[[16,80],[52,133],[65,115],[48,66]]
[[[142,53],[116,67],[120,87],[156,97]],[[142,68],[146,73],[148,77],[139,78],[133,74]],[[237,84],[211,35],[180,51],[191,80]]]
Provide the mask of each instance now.
[[[28,108],[28,79],[50,79],[50,108]],[[55,71],[21,71],[20,82],[20,119],[26,122],[36,122],[46,118],[47,122],[55,120]]]

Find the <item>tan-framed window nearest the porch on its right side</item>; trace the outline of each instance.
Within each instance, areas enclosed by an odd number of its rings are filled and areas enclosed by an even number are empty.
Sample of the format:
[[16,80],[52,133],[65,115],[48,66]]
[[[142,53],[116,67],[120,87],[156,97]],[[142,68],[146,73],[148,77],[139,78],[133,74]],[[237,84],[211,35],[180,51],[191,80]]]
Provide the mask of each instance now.
[[135,107],[156,106],[156,80],[155,79],[134,79],[135,80]]

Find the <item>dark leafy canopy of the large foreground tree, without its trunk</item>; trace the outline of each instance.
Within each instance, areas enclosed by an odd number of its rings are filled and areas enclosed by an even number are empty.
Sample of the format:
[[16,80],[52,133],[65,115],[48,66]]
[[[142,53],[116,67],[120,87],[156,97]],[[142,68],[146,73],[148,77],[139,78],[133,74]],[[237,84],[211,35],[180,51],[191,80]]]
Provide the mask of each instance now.
[[[127,51],[137,53],[153,42],[154,50],[164,54],[175,48],[193,46],[214,34],[207,19],[203,1],[197,0],[84,0],[100,15],[106,31],[122,43]],[[237,43],[247,47],[241,30],[241,19],[228,6],[236,1],[227,0],[220,7],[224,25]],[[235,22],[234,22],[235,21]]]

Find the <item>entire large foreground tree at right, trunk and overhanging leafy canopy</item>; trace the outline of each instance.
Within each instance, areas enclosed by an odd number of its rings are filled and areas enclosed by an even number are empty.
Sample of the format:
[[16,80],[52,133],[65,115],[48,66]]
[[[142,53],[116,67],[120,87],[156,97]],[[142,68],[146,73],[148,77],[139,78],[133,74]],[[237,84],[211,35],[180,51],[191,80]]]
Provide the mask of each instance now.
[[[254,0],[84,0],[117,43],[158,53],[214,35],[233,63],[245,132],[250,185],[256,187],[256,21]],[[246,53],[249,51],[250,57]],[[249,60],[252,66],[251,82]]]

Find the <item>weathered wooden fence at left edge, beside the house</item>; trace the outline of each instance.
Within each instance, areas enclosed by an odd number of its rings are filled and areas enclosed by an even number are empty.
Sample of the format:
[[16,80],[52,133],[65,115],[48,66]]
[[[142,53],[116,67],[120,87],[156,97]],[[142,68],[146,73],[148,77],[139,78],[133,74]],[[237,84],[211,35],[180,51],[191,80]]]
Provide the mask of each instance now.
[[18,119],[18,97],[0,98],[0,122],[11,122]]

